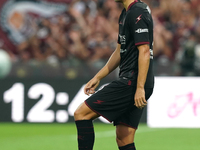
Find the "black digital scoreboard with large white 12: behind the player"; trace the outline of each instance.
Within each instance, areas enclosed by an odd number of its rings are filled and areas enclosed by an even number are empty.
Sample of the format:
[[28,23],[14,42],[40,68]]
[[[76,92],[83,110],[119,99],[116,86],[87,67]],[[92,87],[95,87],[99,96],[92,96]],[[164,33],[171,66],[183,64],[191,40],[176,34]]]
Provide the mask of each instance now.
[[[88,98],[88,80],[1,80],[0,122],[66,123]],[[99,88],[109,81],[101,82]],[[98,88],[97,88],[98,90]],[[107,122],[100,118],[101,121]]]

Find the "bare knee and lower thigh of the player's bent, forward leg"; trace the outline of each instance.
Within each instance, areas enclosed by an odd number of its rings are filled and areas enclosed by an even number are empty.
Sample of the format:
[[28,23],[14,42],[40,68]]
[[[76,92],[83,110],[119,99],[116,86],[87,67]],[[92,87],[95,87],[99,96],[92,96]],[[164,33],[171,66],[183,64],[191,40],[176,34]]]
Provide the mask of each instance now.
[[90,120],[97,117],[99,115],[92,111],[85,103],[82,103],[74,112],[75,120]]

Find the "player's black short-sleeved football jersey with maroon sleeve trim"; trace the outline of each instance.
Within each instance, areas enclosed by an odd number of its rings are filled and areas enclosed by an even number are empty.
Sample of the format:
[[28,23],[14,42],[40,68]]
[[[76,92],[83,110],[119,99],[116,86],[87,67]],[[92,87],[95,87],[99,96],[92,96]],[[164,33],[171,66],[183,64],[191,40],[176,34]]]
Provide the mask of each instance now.
[[154,86],[153,75],[153,20],[149,7],[135,0],[128,9],[123,9],[119,17],[118,43],[120,48],[119,77],[133,81],[137,85],[138,45],[148,44],[150,47],[150,64],[145,87]]

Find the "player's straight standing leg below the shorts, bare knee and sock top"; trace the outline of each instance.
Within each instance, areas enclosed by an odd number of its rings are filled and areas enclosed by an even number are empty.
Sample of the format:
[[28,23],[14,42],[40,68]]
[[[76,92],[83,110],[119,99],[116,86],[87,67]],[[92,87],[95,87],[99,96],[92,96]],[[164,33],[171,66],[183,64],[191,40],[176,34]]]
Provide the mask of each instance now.
[[116,126],[116,141],[119,150],[136,150],[134,145],[134,136],[136,129],[125,126]]

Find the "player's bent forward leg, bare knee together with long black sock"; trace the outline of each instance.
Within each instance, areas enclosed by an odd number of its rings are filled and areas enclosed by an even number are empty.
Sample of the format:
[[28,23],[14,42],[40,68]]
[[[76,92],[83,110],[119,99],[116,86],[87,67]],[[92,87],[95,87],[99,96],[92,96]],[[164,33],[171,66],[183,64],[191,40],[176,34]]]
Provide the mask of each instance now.
[[79,150],[91,150],[94,145],[94,128],[92,120],[99,117],[85,103],[82,103],[74,113],[78,132]]

